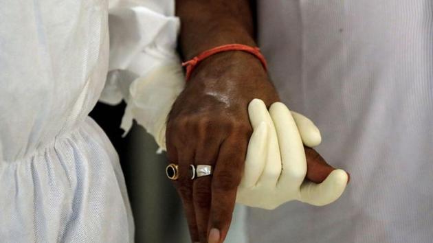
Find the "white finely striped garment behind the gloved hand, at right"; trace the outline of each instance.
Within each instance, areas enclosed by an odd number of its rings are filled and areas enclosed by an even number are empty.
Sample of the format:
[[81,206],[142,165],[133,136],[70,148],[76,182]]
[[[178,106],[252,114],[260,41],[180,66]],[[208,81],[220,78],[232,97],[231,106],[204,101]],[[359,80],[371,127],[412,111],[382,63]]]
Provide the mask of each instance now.
[[259,1],[285,104],[351,173],[326,207],[250,209],[249,242],[432,242],[433,1]]

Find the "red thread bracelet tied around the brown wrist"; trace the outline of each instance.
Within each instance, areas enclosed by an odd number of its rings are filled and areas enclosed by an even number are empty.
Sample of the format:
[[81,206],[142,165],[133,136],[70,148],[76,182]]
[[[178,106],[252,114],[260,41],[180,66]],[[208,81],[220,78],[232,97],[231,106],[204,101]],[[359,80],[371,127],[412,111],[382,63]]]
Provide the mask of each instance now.
[[248,45],[241,45],[241,44],[229,44],[229,45],[221,45],[219,47],[214,47],[212,49],[208,49],[207,51],[203,51],[198,56],[195,56],[191,60],[188,60],[186,62],[182,63],[182,66],[186,66],[186,81],[190,79],[192,71],[195,69],[195,66],[199,64],[203,59],[208,58],[209,56],[212,56],[214,54],[217,54],[219,52],[223,51],[245,51],[249,54],[252,54],[262,62],[263,67],[265,68],[265,71],[267,71],[267,64],[265,57],[260,53],[260,49],[258,47],[250,47]]

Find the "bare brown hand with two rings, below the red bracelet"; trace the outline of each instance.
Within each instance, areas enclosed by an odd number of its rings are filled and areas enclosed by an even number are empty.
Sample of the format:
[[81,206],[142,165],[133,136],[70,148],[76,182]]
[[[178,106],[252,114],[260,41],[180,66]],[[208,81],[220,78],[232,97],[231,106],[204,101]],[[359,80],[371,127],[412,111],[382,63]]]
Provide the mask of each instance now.
[[[227,235],[252,135],[247,106],[254,98],[267,106],[279,101],[258,59],[227,51],[197,66],[170,112],[168,159],[179,165],[179,178],[173,182],[193,242],[208,242],[209,236],[223,242]],[[334,170],[310,148],[306,157],[310,181],[320,183]],[[191,164],[212,165],[212,176],[191,180]]]

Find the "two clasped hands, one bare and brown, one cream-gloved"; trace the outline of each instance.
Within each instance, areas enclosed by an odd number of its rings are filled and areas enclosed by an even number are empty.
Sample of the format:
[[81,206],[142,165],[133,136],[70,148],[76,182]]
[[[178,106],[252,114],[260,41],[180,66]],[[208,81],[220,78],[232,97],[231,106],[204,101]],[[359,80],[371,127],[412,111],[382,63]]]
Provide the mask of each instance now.
[[[223,242],[236,200],[265,209],[290,200],[325,205],[344,191],[347,174],[302,146],[320,143],[318,129],[278,100],[260,62],[240,51],[201,62],[177,97],[166,146],[193,242]],[[212,175],[194,176],[203,166]]]

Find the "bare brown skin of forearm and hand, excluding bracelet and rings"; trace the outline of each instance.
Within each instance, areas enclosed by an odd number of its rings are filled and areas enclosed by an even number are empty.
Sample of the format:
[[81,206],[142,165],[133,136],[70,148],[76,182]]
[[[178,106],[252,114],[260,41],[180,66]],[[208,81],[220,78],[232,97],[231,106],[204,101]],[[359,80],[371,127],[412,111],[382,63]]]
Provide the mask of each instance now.
[[[184,60],[219,45],[256,46],[249,1],[178,0]],[[242,51],[215,54],[197,65],[168,116],[166,146],[179,165],[173,181],[188,220],[192,242],[223,242],[232,220],[252,126],[247,106],[258,98],[280,98],[260,61]],[[307,179],[320,183],[334,170],[306,148]],[[190,180],[190,164],[212,165],[212,176]],[[309,170],[313,168],[313,170]]]

